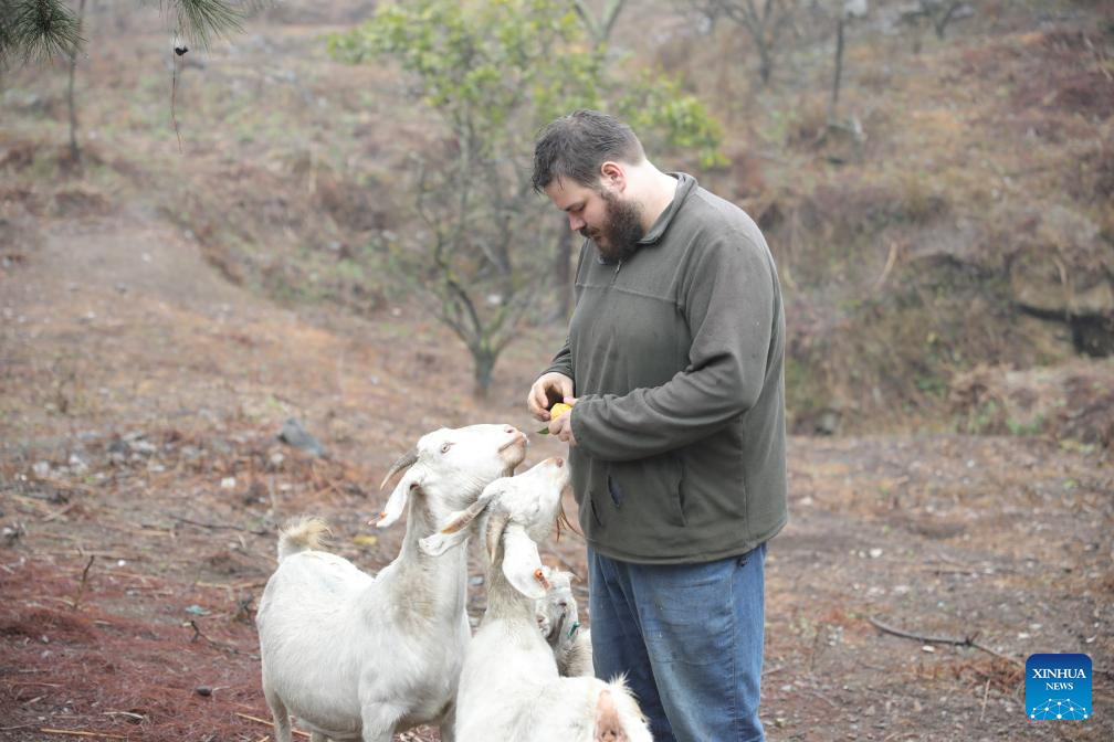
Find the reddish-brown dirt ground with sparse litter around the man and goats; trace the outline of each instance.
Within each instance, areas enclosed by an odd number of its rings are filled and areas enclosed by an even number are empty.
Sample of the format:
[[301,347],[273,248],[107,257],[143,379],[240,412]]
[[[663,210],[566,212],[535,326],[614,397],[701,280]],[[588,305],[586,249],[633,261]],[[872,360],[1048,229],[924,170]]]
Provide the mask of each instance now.
[[[420,313],[271,305],[128,214],[43,220],[0,311],[0,740],[268,739],[252,619],[276,524],[321,514],[336,552],[382,567],[401,525],[365,522],[389,462],[442,425],[535,429],[521,400],[563,332],[524,338],[473,399]],[[287,417],[329,457],[277,441]],[[531,437],[527,464],[559,453]],[[794,437],[789,456],[770,739],[1114,739],[1110,452],[925,435]],[[575,536],[545,552],[584,574]],[[1092,657],[1088,721],[1025,715],[1037,652]]]

